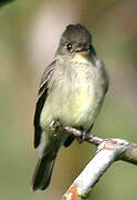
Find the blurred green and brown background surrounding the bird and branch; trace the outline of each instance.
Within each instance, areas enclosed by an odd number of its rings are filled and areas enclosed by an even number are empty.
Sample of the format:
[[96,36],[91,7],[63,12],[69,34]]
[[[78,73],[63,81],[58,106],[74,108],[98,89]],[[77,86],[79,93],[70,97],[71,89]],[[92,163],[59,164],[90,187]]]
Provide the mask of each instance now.
[[[53,60],[68,23],[93,34],[110,87],[93,129],[101,137],[137,142],[137,1],[23,0],[0,8],[0,199],[59,200],[95,152],[74,142],[56,159],[50,188],[32,192],[38,156],[33,114],[40,78]],[[136,200],[137,167],[116,162],[93,189],[91,200]]]

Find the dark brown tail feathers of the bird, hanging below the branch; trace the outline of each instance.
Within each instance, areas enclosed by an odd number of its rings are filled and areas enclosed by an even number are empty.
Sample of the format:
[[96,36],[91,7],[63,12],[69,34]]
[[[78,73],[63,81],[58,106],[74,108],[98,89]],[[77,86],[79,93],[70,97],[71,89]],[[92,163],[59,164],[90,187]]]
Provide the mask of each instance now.
[[32,189],[44,190],[48,188],[51,174],[54,166],[55,157],[45,154],[42,159],[38,161],[33,178],[32,178]]

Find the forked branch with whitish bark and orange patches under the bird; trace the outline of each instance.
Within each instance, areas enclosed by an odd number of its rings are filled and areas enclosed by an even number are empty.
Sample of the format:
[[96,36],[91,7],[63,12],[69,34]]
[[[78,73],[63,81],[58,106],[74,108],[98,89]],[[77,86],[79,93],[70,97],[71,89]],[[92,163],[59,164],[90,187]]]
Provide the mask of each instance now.
[[67,192],[63,196],[63,200],[86,200],[92,188],[114,161],[124,160],[137,164],[137,143],[123,139],[102,139],[88,136],[84,131],[66,127],[60,121],[52,122],[51,128],[52,130],[57,129],[62,132],[67,132],[76,138],[84,138],[84,141],[97,146],[94,158],[73,181]]

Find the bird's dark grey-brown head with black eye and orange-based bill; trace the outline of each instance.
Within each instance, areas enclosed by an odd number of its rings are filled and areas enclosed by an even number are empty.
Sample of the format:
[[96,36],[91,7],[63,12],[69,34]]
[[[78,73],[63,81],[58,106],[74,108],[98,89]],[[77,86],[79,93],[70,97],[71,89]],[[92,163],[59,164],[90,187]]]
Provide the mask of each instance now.
[[95,53],[92,46],[92,36],[81,24],[70,24],[63,32],[56,54],[74,57],[76,53],[87,56]]

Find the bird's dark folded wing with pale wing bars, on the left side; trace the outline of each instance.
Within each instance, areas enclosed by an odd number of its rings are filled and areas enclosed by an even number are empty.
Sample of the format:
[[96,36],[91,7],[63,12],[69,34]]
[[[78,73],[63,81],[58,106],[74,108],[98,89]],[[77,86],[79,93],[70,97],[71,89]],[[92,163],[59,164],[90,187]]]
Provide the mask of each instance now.
[[54,68],[55,61],[52,62],[50,66],[45,68],[45,71],[43,72],[40,89],[38,93],[38,101],[35,107],[35,113],[34,113],[34,148],[36,148],[40,144],[41,140],[41,126],[40,126],[40,116],[43,108],[43,104],[48,97],[48,89],[49,89],[49,80],[52,77],[53,68]]

